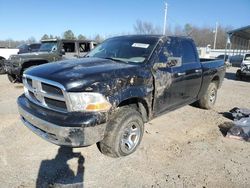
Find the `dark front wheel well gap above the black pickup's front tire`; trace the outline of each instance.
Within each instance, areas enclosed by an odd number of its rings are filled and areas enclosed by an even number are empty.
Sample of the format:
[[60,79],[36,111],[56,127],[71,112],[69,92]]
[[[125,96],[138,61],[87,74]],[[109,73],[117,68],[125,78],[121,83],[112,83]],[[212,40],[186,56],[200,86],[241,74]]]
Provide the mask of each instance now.
[[118,107],[121,106],[130,106],[131,108],[136,109],[138,112],[141,113],[143,121],[144,122],[148,121],[149,109],[148,109],[148,104],[144,99],[141,98],[126,99],[118,105]]

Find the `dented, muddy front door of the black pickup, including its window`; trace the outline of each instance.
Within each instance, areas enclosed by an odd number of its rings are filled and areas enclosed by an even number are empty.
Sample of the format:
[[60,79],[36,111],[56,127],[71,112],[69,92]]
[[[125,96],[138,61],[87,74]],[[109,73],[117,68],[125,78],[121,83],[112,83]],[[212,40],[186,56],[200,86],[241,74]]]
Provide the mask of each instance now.
[[171,65],[170,58],[181,59],[179,38],[173,37],[166,41],[155,60],[156,64],[163,64],[162,67],[154,68],[153,71],[155,79],[154,112],[156,115],[177,107],[185,101],[184,67],[180,64]]

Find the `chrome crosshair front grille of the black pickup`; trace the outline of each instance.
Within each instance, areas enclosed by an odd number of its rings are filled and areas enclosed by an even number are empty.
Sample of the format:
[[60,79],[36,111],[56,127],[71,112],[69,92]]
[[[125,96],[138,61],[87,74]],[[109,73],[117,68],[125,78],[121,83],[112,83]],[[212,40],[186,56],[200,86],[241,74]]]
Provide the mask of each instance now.
[[62,87],[36,77],[24,75],[23,84],[26,97],[45,108],[67,112],[67,104]]

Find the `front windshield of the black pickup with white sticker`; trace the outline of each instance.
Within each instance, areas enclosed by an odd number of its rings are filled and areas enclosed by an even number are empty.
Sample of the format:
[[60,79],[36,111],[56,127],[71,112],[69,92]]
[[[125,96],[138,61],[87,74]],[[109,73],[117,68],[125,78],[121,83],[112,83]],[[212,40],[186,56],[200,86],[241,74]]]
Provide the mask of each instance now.
[[99,57],[122,62],[143,63],[151,54],[157,38],[111,38],[93,49],[87,57]]

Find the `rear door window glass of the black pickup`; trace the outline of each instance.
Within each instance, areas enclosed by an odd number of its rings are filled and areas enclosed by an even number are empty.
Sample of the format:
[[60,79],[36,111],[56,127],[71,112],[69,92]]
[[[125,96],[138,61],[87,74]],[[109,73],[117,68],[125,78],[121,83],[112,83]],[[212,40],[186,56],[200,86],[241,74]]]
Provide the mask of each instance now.
[[182,62],[183,64],[196,62],[196,52],[190,41],[183,40],[182,42]]

